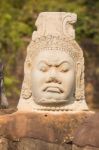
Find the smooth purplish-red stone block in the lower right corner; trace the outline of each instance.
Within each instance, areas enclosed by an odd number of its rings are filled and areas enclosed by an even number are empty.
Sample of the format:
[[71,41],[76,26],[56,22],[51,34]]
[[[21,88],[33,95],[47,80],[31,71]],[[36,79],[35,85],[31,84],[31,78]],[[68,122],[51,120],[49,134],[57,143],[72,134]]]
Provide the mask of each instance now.
[[83,125],[78,127],[74,137],[73,141],[76,145],[99,148],[99,112],[90,116]]

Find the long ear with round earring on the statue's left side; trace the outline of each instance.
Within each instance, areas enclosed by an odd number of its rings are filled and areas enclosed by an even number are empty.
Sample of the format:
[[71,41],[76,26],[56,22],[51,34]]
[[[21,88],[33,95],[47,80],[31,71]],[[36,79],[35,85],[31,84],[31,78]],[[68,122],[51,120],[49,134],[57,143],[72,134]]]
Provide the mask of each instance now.
[[24,81],[22,84],[22,91],[21,91],[21,96],[23,99],[29,99],[32,96],[31,72],[32,72],[32,64],[29,60],[26,60],[24,64]]

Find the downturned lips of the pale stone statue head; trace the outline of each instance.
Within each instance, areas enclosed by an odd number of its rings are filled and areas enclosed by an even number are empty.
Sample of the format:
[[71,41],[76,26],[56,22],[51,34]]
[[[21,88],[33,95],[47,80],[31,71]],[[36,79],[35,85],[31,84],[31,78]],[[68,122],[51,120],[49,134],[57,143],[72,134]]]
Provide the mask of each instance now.
[[63,89],[58,86],[46,86],[43,91],[53,92],[53,93],[63,93]]

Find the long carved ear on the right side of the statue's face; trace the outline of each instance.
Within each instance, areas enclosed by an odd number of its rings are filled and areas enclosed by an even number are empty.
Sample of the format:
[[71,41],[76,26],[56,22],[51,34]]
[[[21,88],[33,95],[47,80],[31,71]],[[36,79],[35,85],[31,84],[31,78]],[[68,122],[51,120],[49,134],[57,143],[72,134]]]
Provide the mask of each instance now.
[[76,63],[76,100],[83,100],[84,97],[84,64],[81,62]]

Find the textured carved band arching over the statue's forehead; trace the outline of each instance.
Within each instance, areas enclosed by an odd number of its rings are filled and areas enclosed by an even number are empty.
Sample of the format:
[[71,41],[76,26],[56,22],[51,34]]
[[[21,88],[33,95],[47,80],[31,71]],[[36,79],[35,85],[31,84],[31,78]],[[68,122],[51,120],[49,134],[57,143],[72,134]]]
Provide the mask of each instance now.
[[[47,36],[32,40],[30,45],[28,46],[28,54],[30,58],[36,56],[40,51],[44,50],[58,50],[65,51],[68,53],[72,59],[77,62],[81,61],[83,58],[83,53],[79,45],[74,40],[67,40],[65,38],[55,37],[55,36]],[[29,57],[28,57],[29,58]]]

